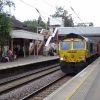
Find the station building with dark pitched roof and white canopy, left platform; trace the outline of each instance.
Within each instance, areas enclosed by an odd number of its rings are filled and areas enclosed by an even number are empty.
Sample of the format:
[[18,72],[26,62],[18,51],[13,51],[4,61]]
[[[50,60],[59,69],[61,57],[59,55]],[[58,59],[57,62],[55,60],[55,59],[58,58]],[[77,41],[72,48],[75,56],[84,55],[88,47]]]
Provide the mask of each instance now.
[[19,49],[19,56],[39,55],[43,52],[44,35],[32,32],[22,22],[12,17],[11,39],[5,48]]

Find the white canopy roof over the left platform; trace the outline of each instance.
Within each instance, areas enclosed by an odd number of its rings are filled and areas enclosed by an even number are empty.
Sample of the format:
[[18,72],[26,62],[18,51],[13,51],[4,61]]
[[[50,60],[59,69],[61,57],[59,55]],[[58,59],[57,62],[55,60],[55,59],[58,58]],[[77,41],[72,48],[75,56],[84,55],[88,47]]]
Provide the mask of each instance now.
[[44,40],[42,34],[37,34],[25,30],[13,30],[11,32],[11,38],[23,38],[23,39],[32,39],[32,40]]

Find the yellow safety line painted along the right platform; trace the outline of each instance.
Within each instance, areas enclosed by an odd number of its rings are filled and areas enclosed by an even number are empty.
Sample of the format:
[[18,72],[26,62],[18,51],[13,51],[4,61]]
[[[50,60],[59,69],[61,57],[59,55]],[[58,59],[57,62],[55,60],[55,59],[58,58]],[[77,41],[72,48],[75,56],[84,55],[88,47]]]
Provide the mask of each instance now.
[[69,93],[69,95],[67,95],[66,100],[70,100],[70,98],[72,97],[72,95],[74,95],[75,92],[76,92],[76,91],[81,87],[81,85],[85,82],[85,80],[89,78],[89,75],[92,74],[92,72],[95,70],[95,68],[96,68],[96,67],[93,67],[93,69],[91,69],[91,71],[89,72],[89,74],[81,80],[81,82],[76,86],[75,89],[73,89],[73,91],[72,91],[71,93]]

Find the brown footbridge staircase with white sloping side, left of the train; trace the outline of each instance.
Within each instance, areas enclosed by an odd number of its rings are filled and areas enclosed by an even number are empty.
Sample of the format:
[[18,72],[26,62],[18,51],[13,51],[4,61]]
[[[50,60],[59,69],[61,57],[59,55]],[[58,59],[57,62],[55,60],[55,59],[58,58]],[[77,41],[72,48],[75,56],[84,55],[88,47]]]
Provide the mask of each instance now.
[[[58,29],[56,28],[51,35],[48,32],[43,32],[44,39],[46,41],[35,40],[35,42],[33,42],[33,44],[31,45],[31,48],[29,49],[29,54],[34,53],[34,55],[41,55],[43,54],[43,49],[45,49],[44,51],[48,51],[50,48],[50,41],[55,37],[57,30]],[[45,47],[44,47],[44,44],[45,44]]]

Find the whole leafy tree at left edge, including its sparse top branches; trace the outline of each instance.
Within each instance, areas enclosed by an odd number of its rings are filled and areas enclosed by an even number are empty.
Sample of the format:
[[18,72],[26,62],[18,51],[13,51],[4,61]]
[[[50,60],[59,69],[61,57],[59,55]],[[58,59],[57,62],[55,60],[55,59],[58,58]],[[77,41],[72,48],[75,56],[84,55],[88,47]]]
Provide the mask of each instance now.
[[4,12],[5,7],[15,7],[15,4],[10,0],[0,0],[0,46],[1,51],[4,45],[10,38],[10,31],[12,29],[11,18]]

